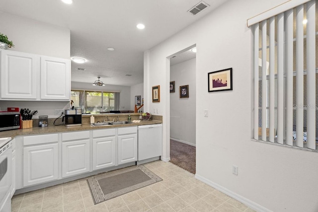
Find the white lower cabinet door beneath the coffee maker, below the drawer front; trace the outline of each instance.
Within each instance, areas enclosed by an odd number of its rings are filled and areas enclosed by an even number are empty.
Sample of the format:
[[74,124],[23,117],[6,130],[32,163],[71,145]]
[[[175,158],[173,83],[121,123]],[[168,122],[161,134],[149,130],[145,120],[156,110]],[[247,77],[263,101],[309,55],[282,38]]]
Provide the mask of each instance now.
[[89,172],[89,139],[62,143],[62,177]]

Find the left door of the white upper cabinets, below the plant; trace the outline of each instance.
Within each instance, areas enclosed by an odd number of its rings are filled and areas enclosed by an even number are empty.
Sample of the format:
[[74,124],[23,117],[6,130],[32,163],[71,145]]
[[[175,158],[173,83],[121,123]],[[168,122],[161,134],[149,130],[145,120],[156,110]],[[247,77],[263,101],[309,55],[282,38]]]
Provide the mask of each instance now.
[[0,51],[1,98],[37,98],[37,57],[33,54]]

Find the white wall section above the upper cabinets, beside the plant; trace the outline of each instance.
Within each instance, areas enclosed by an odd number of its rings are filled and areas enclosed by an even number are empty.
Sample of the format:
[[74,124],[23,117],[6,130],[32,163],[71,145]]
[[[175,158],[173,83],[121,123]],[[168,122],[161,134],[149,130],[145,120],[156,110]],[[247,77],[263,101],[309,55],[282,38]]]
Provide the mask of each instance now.
[[70,29],[1,11],[0,26],[15,46],[9,50],[70,59]]

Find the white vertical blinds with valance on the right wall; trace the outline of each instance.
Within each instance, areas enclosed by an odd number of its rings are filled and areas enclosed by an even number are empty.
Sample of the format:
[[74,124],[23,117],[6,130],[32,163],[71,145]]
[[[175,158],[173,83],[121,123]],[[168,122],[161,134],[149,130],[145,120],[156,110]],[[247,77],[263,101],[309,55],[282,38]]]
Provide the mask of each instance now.
[[254,21],[254,139],[316,149],[318,2],[297,2],[248,20]]

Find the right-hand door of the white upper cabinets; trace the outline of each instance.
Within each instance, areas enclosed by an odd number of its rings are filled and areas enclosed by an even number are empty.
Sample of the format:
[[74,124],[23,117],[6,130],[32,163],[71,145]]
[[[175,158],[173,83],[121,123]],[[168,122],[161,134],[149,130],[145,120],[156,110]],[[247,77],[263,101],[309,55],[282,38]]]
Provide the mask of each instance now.
[[41,56],[41,99],[70,100],[70,60]]

